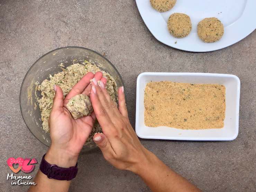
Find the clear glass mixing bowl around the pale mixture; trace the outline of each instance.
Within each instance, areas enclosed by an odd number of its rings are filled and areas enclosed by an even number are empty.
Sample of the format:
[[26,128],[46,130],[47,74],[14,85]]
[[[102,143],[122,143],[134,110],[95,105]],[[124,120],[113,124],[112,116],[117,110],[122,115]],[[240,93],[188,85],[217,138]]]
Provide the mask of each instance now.
[[[40,57],[28,70],[20,89],[20,110],[22,117],[31,131],[31,133],[43,144],[50,146],[50,134],[42,129],[42,121],[40,109],[36,102],[37,97],[41,97],[39,91],[36,91],[36,82],[39,84],[43,80],[49,78],[50,74],[61,72],[62,69],[58,66],[64,63],[65,67],[73,64],[73,61],[83,62],[91,61],[101,70],[108,72],[117,83],[117,87],[124,86],[124,82],[118,73],[115,66],[110,63],[105,57],[99,53],[83,47],[62,47],[46,53]],[[125,92],[126,95],[126,92]],[[92,142],[83,146],[82,151],[88,151],[95,148],[96,145]]]

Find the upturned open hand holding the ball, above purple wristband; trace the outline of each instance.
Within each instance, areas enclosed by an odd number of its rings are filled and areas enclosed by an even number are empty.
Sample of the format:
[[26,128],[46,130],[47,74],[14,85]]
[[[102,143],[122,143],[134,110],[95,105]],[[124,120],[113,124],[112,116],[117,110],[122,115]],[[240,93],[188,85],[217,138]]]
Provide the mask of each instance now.
[[97,72],[95,75],[89,72],[73,86],[65,99],[62,89],[54,85],[55,97],[49,117],[52,143],[45,155],[47,162],[62,167],[75,166],[78,155],[92,131],[96,116],[92,112],[90,116],[74,119],[66,108],[66,104],[77,94],[89,95],[90,80],[93,78],[97,81],[101,80],[104,84],[107,82],[107,79],[102,77],[101,72]]

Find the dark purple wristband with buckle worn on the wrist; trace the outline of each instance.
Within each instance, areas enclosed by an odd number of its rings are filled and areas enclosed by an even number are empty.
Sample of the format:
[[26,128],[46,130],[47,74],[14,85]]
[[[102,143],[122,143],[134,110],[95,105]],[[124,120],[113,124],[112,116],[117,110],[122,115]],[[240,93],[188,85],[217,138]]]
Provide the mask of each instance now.
[[39,169],[42,173],[47,175],[49,179],[70,181],[75,178],[78,171],[77,163],[74,167],[58,167],[57,165],[51,165],[47,161],[45,161],[44,156],[42,157]]

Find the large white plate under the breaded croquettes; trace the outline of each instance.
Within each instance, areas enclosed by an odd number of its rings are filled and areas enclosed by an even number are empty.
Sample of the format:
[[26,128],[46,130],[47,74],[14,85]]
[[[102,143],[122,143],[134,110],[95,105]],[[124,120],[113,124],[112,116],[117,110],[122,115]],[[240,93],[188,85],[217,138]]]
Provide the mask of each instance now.
[[[136,3],[154,37],[184,51],[208,52],[222,49],[237,43],[256,28],[256,0],[177,0],[170,11],[163,13],[153,9],[149,0],[136,0]],[[191,18],[192,30],[187,37],[174,38],[167,29],[167,20],[175,12],[185,13]],[[204,43],[197,35],[198,22],[207,17],[217,17],[224,25],[224,35],[217,42]]]

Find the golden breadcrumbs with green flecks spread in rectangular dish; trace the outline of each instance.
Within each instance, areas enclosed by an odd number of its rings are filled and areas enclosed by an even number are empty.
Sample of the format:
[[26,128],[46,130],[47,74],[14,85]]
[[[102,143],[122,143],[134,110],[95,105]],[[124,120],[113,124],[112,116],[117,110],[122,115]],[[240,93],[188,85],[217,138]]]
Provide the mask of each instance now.
[[223,128],[226,89],[219,84],[149,82],[144,92],[148,127],[178,129]]

